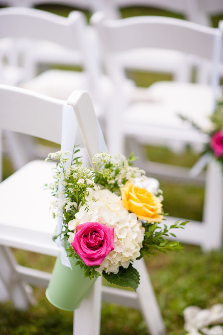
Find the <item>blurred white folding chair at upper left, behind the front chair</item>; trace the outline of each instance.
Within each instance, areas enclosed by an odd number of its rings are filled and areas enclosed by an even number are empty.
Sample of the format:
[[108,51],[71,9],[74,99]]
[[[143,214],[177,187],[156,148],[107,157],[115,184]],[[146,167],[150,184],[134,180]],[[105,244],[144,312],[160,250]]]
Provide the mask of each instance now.
[[47,41],[70,50],[78,49],[81,55],[85,71],[45,71],[32,82],[26,82],[23,85],[26,89],[56,98],[69,96],[75,88],[88,89],[94,95],[93,77],[97,69],[94,54],[90,54],[90,42],[85,34],[86,19],[83,13],[71,12],[69,17],[65,18],[32,8],[2,8],[0,18],[1,38]]

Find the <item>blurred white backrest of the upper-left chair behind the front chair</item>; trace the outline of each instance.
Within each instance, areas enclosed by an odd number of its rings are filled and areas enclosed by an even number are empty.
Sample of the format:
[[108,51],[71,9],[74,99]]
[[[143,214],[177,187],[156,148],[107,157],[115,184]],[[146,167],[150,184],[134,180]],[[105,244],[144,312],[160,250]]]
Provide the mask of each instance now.
[[33,8],[0,9],[0,38],[22,37],[49,41],[78,50],[83,67],[87,70],[90,86],[93,87],[99,68],[86,26],[85,15],[80,11],[73,11],[65,18]]

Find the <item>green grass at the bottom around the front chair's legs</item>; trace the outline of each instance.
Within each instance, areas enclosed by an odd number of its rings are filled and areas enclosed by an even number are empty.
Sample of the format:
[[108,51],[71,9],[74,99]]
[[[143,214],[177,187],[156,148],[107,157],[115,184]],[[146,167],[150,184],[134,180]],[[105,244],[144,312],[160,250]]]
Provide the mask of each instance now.
[[[54,258],[14,250],[23,265],[51,271]],[[183,335],[183,309],[190,305],[210,308],[223,303],[223,251],[202,253],[185,245],[180,253],[146,258],[146,264],[164,318],[167,335]],[[72,333],[73,314],[53,307],[45,289],[34,288],[36,306],[16,311],[11,303],[0,305],[1,335],[51,335]],[[146,335],[139,311],[102,304],[101,335]]]

